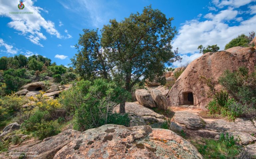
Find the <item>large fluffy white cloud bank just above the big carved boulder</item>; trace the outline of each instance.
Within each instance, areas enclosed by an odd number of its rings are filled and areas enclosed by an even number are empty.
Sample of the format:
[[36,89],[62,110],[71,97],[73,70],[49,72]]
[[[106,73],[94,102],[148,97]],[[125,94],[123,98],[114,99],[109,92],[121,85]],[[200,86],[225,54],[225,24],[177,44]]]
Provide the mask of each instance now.
[[240,22],[238,25],[228,25],[228,21],[240,21],[241,18],[236,18],[237,11],[228,9],[220,11],[217,15],[209,13],[205,15],[208,20],[199,21],[193,19],[187,21],[178,30],[178,35],[173,40],[173,47],[179,47],[181,55],[198,53],[197,47],[199,45],[215,45],[223,50],[225,45],[237,37],[239,34],[249,34],[250,31],[255,30],[256,15],[247,20]]

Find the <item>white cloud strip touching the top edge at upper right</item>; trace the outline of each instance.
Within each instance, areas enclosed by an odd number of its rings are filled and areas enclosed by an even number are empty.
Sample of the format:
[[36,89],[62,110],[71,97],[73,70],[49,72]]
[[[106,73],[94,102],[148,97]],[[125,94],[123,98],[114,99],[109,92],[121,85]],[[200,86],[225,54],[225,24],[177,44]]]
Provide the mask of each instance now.
[[218,8],[223,8],[224,6],[239,8],[251,2],[256,2],[256,0],[212,0],[212,3]]

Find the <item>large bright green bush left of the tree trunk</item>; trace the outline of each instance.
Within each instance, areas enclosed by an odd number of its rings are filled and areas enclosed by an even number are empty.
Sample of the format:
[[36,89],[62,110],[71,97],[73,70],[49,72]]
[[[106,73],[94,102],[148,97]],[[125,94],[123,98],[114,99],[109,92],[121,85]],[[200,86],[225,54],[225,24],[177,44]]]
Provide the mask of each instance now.
[[130,98],[130,93],[104,79],[78,81],[60,96],[64,109],[71,114],[74,112],[76,130],[87,130],[108,123],[113,107],[124,98]]

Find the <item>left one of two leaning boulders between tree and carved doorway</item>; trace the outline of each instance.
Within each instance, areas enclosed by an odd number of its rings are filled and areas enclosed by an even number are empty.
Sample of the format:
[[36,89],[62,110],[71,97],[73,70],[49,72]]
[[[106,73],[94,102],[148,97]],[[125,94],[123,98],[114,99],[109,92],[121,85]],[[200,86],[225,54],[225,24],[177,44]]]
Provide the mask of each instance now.
[[144,107],[150,107],[150,108],[156,107],[155,101],[153,100],[148,90],[136,89],[135,96],[137,101]]

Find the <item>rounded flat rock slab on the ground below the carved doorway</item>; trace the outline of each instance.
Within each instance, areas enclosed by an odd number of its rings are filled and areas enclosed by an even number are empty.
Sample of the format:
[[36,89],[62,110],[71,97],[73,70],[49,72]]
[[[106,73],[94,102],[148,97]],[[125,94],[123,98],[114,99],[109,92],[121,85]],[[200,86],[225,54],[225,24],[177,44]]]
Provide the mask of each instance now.
[[186,111],[175,112],[174,120],[180,124],[185,124],[188,129],[192,130],[198,130],[205,126],[204,121],[199,116]]

